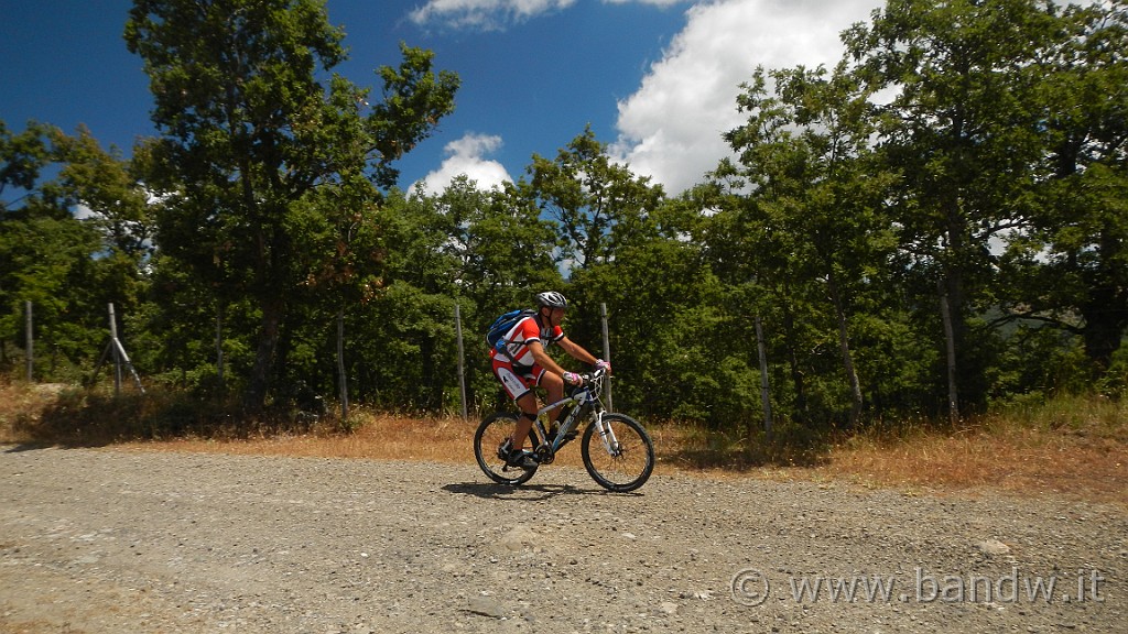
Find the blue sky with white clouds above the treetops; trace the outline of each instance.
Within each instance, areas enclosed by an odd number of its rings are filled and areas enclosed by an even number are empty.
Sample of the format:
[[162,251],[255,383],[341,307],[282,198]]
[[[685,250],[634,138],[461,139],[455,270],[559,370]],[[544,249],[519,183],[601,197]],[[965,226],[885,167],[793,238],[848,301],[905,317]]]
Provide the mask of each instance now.
[[[834,64],[838,33],[881,0],[328,0],[350,60],[379,89],[398,43],[457,72],[455,114],[407,155],[400,186],[482,186],[522,176],[590,124],[611,155],[677,194],[726,156],[734,98],[757,65]],[[141,60],[125,50],[129,0],[0,0],[0,120],[86,124],[126,155],[156,134]]]

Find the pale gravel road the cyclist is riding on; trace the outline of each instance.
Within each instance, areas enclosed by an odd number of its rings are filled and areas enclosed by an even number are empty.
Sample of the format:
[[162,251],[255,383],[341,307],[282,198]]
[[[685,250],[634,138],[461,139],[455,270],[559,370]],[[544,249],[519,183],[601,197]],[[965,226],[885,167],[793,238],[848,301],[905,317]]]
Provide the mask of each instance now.
[[9,446],[0,554],[6,633],[1128,632],[1128,512],[993,493]]

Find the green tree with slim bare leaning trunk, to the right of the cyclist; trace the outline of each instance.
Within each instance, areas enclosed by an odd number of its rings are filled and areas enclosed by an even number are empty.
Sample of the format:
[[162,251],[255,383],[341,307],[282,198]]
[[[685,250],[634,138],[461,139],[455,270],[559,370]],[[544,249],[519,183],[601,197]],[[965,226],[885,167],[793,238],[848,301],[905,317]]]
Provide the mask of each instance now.
[[[758,72],[738,100],[749,121],[725,134],[740,155],[740,174],[768,223],[763,231],[790,236],[782,264],[764,271],[793,285],[814,283],[830,303],[843,373],[849,388],[851,424],[862,414],[863,394],[852,346],[854,314],[888,272],[895,245],[884,200],[896,175],[876,160],[870,95],[844,65],[770,73],[776,97]],[[773,261],[767,261],[773,262]]]

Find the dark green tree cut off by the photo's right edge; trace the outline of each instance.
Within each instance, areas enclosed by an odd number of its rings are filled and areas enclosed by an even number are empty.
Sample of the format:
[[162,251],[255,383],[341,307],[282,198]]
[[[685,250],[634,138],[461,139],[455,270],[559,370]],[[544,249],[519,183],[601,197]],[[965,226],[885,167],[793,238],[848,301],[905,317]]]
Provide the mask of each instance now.
[[1007,318],[1081,335],[1109,368],[1128,328],[1128,3],[1069,7],[1042,53],[1038,204],[1010,240]]

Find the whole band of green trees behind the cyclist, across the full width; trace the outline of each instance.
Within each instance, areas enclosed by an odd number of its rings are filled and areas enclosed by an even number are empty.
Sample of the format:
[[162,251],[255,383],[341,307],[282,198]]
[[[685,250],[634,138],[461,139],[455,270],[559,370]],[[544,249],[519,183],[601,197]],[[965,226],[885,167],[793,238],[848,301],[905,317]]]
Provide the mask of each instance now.
[[125,160],[0,123],[0,362],[32,300],[89,368],[114,301],[148,377],[450,411],[457,309],[488,408],[483,331],[556,289],[597,353],[606,307],[615,404],[642,416],[755,435],[761,381],[783,429],[1122,396],[1126,37],[1125,0],[890,0],[834,67],[756,70],[733,158],[678,196],[590,127],[515,183],[429,194],[395,187],[453,107],[429,52],[403,45],[369,105],[318,2],[138,0],[158,139]]

